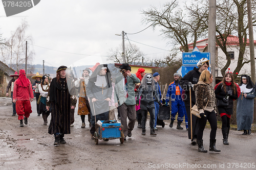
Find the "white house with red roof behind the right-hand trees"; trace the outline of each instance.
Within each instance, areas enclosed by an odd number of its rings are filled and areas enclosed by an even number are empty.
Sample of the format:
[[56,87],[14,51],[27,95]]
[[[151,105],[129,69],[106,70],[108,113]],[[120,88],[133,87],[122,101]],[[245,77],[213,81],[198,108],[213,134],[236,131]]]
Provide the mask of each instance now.
[[[233,72],[234,69],[237,67],[238,62],[238,56],[239,56],[239,39],[237,36],[228,36],[227,39],[227,52],[230,54],[231,63],[228,68],[230,68],[230,71]],[[196,42],[196,46],[198,47],[200,52],[203,52],[204,48],[208,45],[208,38],[203,39],[201,41]],[[254,40],[254,49],[256,46],[256,41]],[[188,44],[189,52],[193,51],[193,43]],[[256,50],[254,50],[256,53]],[[207,51],[205,51],[207,52]],[[255,54],[254,54],[255,55]],[[212,56],[211,56],[212,57]],[[247,45],[246,50],[244,54],[244,61],[250,60],[250,50],[249,50],[249,39],[247,39]],[[216,44],[216,77],[222,77],[221,75],[221,69],[224,67],[224,65],[227,63],[226,55],[221,50],[220,46]],[[251,68],[250,63],[244,64],[244,66],[241,68],[239,75],[251,75]],[[228,70],[226,70],[227,72]]]

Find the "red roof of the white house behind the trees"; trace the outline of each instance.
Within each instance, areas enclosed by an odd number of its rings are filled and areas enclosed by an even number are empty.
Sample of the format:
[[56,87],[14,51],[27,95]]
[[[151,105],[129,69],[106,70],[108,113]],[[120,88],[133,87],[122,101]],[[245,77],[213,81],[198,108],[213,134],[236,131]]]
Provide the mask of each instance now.
[[[244,38],[243,38],[243,40],[244,40]],[[205,44],[203,43],[204,41],[205,41]],[[246,42],[247,42],[246,45],[249,45],[249,39],[248,38],[247,38]],[[256,45],[256,40],[253,40],[253,42],[254,42],[254,45]],[[198,49],[204,49],[208,45],[208,38],[200,40],[200,41],[197,41],[196,43],[197,44],[200,43],[200,45],[196,45],[198,47]],[[230,46],[239,45],[239,37],[233,36],[233,35],[229,35],[227,37],[227,45],[230,45]],[[216,44],[216,46],[219,46],[219,45]],[[194,49],[193,48],[193,43],[188,44],[188,49],[190,49],[190,50]]]

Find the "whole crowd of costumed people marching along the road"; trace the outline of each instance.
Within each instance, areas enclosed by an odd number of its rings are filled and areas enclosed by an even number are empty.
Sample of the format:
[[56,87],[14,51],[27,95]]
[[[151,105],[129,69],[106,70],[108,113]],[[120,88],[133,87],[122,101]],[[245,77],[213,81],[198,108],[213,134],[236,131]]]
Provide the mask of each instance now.
[[[81,128],[86,127],[85,117],[88,115],[92,139],[95,137],[95,122],[115,119],[114,109],[117,108],[118,119],[121,119],[123,126],[124,140],[127,136],[132,136],[136,119],[138,128],[142,129],[141,134],[146,135],[148,112],[150,135],[157,135],[159,110],[163,107],[168,108],[168,103],[171,102],[169,127],[173,128],[178,114],[176,128],[182,130],[181,123],[185,119],[191,144],[198,144],[199,152],[207,152],[203,147],[203,132],[208,120],[211,128],[209,151],[221,152],[216,148],[217,109],[222,119],[223,144],[229,144],[228,134],[234,100],[238,100],[238,130],[243,130],[243,135],[251,134],[255,85],[247,75],[242,75],[240,84],[236,84],[232,73],[228,71],[223,80],[213,87],[213,78],[207,70],[208,67],[209,60],[202,58],[197,67],[188,71],[183,78],[176,72],[174,82],[168,86],[165,99],[161,94],[158,72],[152,75],[139,68],[136,74],[132,74],[131,66],[126,63],[119,67],[121,74],[115,78],[112,77],[107,64],[96,63],[95,66],[84,69],[78,79],[74,77],[72,70],[60,66],[51,82],[48,76],[37,73],[32,77],[35,79],[33,84],[26,77],[25,70],[21,69],[19,74],[15,72],[14,75],[10,75],[13,79],[7,86],[6,95],[9,95],[11,87],[12,116],[17,113],[20,127],[23,127],[24,124],[28,124],[28,118],[32,113],[30,102],[34,99],[32,88],[35,89],[37,115],[42,115],[43,125],[48,124],[47,118],[51,113],[48,133],[54,135],[54,145],[66,143],[63,137],[70,134],[77,100]],[[91,71],[92,74],[89,76]],[[197,107],[198,114],[190,114],[193,106]]]

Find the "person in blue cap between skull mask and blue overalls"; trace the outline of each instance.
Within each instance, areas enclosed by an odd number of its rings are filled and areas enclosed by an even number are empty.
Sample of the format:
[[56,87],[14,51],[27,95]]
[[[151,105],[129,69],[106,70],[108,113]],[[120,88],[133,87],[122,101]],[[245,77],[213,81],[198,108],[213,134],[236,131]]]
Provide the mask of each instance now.
[[[159,75],[158,72],[155,72],[155,73],[153,74],[153,79],[154,79],[155,88],[156,88],[156,91],[157,91],[158,98],[161,99],[161,90],[160,90],[160,86],[159,86],[159,84],[158,84],[158,81],[160,80],[160,75]],[[161,103],[162,103],[162,101],[161,101]],[[158,102],[156,101],[155,98],[154,98],[154,104],[155,104],[155,119],[156,119],[156,120],[155,120],[154,129],[155,129],[155,130],[158,130],[158,129],[156,128],[156,126],[157,126],[157,115],[158,115],[158,112],[159,112],[159,104],[158,104]]]

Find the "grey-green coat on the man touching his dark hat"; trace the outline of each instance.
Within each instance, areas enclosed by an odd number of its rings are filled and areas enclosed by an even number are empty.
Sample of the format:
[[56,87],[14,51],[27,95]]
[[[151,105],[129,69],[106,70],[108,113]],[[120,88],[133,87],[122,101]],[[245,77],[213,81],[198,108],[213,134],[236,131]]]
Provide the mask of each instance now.
[[136,83],[140,83],[140,79],[136,77],[135,74],[132,74],[132,76],[127,76],[127,86],[128,86],[128,98],[125,98],[124,96],[124,83],[123,83],[123,75],[118,76],[116,78],[115,83],[115,103],[118,103],[118,106],[121,106],[123,103],[126,105],[135,105],[135,94],[134,94],[134,88]]

